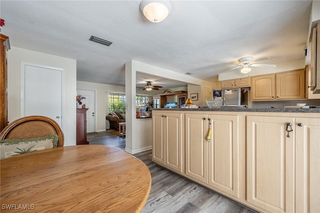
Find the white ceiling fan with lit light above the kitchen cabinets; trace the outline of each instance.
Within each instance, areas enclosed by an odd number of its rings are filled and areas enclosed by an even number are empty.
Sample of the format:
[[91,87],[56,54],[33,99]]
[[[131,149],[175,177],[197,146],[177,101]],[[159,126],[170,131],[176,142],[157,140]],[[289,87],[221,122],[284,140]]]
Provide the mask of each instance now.
[[238,66],[236,67],[233,67],[231,69],[227,69],[227,70],[224,70],[222,72],[225,72],[225,71],[229,71],[229,70],[232,70],[232,69],[236,69],[236,68],[239,68],[239,67],[242,67],[241,68],[241,73],[248,73],[249,71],[251,71],[251,68],[249,66],[255,66],[255,67],[266,67],[266,68],[273,68],[275,67],[274,64],[262,64],[262,63],[255,63],[257,61],[261,61],[261,60],[266,60],[266,59],[270,59],[271,57],[261,57],[259,59],[256,59],[256,60],[252,60],[253,58],[252,57],[242,57],[240,58],[238,61],[239,63],[229,63],[229,64],[236,64]]

